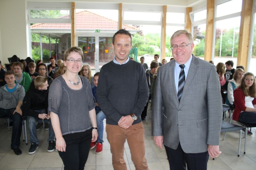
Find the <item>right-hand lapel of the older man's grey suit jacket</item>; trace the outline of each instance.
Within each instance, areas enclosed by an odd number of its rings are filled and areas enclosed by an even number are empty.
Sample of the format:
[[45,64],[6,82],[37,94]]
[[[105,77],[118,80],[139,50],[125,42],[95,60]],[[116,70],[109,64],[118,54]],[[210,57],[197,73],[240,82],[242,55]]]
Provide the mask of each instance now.
[[[190,86],[195,74],[196,74],[196,70],[198,68],[197,64],[199,63],[197,58],[192,54],[192,61],[190,63],[190,66],[189,66],[189,70],[188,70],[188,75],[187,75],[187,78],[186,78],[186,82],[185,82],[185,85],[184,85],[184,88],[183,88],[183,92],[182,92],[182,96],[181,96],[181,99],[180,99],[180,102],[182,101],[182,98],[186,95],[186,92],[188,91],[188,87]],[[178,97],[177,97],[178,99]]]

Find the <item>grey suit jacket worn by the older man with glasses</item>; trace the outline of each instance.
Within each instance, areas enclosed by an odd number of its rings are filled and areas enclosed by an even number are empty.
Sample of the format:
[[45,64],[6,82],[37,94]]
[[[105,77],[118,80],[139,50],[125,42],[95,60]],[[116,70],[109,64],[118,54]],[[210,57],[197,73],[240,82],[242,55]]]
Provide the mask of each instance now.
[[[222,100],[219,76],[211,63],[192,56],[180,102],[174,80],[175,61],[160,67],[152,108],[152,135],[186,153],[206,152],[219,145]],[[161,111],[162,107],[164,110]]]

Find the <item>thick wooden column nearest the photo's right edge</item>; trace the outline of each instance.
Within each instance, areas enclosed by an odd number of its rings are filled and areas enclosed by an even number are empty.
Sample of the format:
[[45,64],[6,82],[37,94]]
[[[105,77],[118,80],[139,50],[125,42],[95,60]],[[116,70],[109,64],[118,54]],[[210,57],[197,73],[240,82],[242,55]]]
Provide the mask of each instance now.
[[241,11],[237,65],[244,66],[245,71],[247,70],[248,61],[250,29],[252,19],[252,3],[252,0],[243,0]]

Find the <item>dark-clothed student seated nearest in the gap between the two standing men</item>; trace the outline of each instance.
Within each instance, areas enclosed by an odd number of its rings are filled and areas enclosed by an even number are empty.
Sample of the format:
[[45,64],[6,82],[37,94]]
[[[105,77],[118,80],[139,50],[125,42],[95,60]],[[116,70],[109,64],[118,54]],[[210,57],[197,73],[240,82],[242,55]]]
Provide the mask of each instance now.
[[[146,71],[146,78],[147,78],[147,82],[148,82],[148,88],[149,88],[149,97],[148,97],[148,101],[151,100],[151,86],[153,83],[153,76],[154,74],[156,74],[156,70],[159,67],[158,62],[153,60],[150,63],[150,70]],[[146,104],[146,106],[144,107],[144,110],[141,112],[141,120],[144,120],[147,116],[147,110],[148,110],[148,102]]]

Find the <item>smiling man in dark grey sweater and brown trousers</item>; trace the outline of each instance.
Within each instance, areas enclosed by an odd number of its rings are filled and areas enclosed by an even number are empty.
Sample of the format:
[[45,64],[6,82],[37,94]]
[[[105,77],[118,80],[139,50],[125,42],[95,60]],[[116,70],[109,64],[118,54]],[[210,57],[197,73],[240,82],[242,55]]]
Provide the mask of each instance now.
[[107,116],[106,132],[112,165],[115,170],[126,170],[126,139],[135,168],[148,170],[140,118],[149,96],[145,70],[140,63],[129,60],[132,36],[128,31],[117,31],[112,46],[116,56],[102,66],[97,87],[98,104]]

